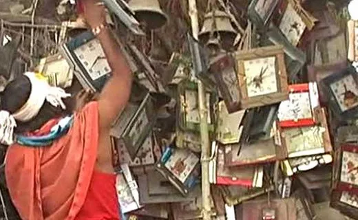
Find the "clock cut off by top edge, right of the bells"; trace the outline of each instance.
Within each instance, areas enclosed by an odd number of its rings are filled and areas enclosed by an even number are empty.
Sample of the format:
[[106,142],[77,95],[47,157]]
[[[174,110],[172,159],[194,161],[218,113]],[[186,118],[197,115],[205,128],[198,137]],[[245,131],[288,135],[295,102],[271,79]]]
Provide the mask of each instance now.
[[268,23],[279,0],[253,0],[251,1],[248,14],[249,19],[257,27],[262,28]]

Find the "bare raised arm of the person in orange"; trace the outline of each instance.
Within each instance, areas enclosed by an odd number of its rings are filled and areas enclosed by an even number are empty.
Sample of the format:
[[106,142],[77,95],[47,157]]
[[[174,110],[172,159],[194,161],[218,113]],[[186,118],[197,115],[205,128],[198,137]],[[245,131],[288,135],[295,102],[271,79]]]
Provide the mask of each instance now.
[[[92,29],[105,25],[105,8],[99,2],[83,0],[85,19]],[[101,32],[96,37],[101,42],[112,69],[112,78],[108,80],[98,98],[99,126],[100,129],[106,130],[110,128],[129,100],[132,74],[112,32],[107,28],[101,28]]]

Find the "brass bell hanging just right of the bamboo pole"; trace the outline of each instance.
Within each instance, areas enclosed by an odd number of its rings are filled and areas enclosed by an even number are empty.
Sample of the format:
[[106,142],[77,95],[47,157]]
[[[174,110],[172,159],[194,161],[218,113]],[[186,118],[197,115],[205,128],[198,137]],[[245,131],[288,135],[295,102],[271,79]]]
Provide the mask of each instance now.
[[[214,28],[215,30],[213,30]],[[227,12],[214,10],[205,14],[204,24],[202,25],[202,30],[198,36],[199,40],[202,43],[207,43],[212,32],[215,38],[218,37],[217,35],[220,36],[220,41],[224,50],[229,50],[233,47],[237,32],[233,29],[230,16]]]

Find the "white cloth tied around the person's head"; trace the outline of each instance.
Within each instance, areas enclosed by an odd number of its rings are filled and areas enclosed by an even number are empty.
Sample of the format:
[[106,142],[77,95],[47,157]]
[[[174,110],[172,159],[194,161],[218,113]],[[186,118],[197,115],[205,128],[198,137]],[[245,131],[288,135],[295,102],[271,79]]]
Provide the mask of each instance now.
[[32,120],[40,111],[45,101],[54,107],[61,106],[65,109],[62,98],[70,97],[59,87],[51,87],[46,80],[36,77],[33,72],[24,74],[31,83],[31,92],[28,101],[17,112],[10,115],[8,111],[0,111],[0,142],[3,144],[14,143],[14,128],[17,126],[15,120],[28,122]]

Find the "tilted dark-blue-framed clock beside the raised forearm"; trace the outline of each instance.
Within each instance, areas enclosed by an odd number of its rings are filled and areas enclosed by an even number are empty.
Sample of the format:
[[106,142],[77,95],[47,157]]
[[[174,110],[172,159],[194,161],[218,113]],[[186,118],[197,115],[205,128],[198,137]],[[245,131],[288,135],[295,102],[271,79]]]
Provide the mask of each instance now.
[[82,87],[91,91],[101,91],[111,76],[101,43],[91,31],[76,36],[61,46],[62,54],[74,68],[74,74]]

